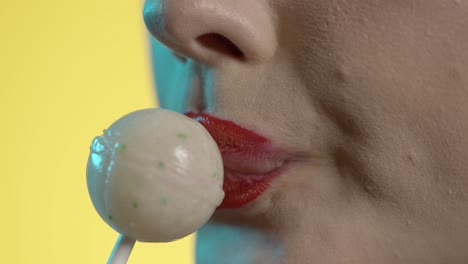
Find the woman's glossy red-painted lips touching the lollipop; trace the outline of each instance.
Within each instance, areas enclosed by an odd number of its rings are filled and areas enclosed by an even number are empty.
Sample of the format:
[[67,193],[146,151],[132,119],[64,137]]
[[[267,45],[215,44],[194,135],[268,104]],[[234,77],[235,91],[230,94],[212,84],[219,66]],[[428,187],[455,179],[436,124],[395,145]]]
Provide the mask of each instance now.
[[207,113],[186,115],[208,130],[223,157],[225,196],[218,209],[240,208],[255,200],[283,171],[286,152],[264,136]]

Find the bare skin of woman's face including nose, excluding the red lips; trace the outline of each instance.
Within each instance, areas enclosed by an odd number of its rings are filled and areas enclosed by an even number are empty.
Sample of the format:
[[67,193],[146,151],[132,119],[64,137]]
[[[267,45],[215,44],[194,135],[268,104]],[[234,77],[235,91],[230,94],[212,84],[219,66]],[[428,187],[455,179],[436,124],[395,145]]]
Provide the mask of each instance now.
[[153,43],[162,107],[297,157],[215,214],[201,263],[466,263],[468,1],[147,0],[144,17],[178,54]]

